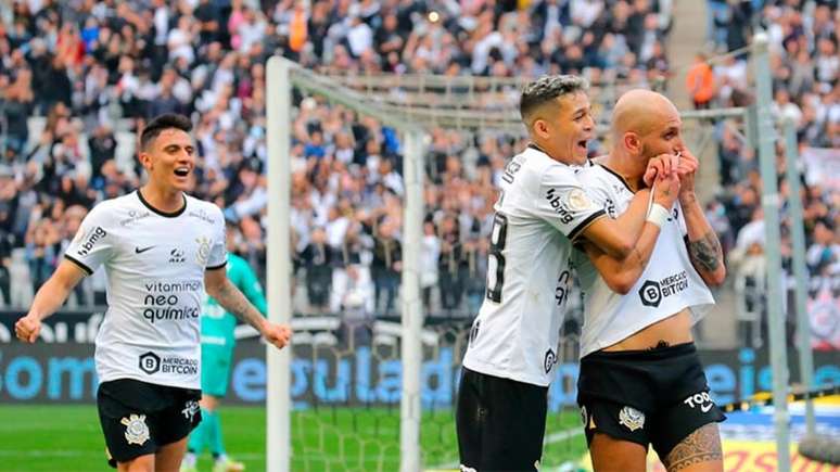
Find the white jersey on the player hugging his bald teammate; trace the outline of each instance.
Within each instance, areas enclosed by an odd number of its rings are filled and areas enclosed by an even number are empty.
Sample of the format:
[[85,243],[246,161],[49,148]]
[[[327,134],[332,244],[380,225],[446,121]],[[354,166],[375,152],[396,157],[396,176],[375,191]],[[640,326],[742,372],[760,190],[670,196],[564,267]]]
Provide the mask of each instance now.
[[466,368],[534,385],[551,382],[572,284],[572,241],[604,215],[575,178],[577,169],[534,146],[508,163]]

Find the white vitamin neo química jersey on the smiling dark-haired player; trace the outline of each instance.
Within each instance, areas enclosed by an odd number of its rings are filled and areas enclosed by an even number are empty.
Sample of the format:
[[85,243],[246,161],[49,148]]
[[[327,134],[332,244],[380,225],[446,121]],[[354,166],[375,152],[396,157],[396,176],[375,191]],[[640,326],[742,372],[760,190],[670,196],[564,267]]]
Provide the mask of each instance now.
[[105,268],[107,311],[94,356],[100,382],[201,387],[204,270],[227,263],[219,207],[184,195],[183,208],[166,214],[139,191],[106,200],[81,222],[65,257],[88,275]]

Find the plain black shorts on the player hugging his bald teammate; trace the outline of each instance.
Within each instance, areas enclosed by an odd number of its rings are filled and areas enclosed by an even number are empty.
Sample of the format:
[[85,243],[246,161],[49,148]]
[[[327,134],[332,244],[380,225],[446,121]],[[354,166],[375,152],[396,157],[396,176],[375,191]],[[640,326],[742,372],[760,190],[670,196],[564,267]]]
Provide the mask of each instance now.
[[455,414],[462,470],[538,470],[547,406],[548,387],[463,368]]

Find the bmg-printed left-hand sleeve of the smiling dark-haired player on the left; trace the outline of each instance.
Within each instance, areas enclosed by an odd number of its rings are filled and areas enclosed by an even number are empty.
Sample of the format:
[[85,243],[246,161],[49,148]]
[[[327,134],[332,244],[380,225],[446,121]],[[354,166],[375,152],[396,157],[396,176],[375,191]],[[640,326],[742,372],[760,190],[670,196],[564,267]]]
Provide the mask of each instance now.
[[97,206],[91,209],[64,252],[64,257],[79,266],[88,276],[111,258],[114,250],[112,219],[106,207]]

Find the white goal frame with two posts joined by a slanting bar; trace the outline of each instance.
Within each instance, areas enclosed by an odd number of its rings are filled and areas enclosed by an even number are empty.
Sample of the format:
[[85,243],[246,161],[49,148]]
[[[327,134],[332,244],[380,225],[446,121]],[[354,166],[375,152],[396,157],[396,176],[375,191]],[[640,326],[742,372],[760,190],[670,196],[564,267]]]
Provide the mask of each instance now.
[[[292,314],[291,246],[290,246],[290,131],[292,87],[320,92],[331,100],[349,106],[362,114],[376,117],[383,124],[403,132],[405,142],[404,181],[406,188],[405,239],[419,241],[422,238],[422,178],[423,178],[423,133],[422,129],[389,116],[382,111],[368,106],[364,100],[335,90],[328,79],[297,67],[279,56],[268,61],[267,67],[267,138],[268,138],[268,304],[269,319],[290,322]],[[403,258],[403,395],[400,399],[400,470],[420,470],[420,363],[423,312],[420,301],[420,247],[406,244]],[[273,288],[285,288],[275,290]],[[292,341],[294,343],[294,341]],[[268,388],[266,450],[267,470],[287,472],[291,469],[291,398],[289,393],[291,349],[277,352],[267,347]]]

